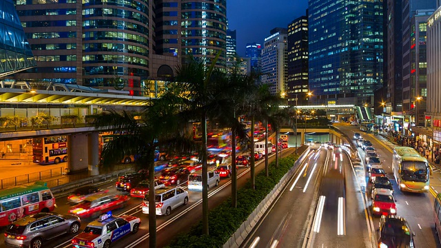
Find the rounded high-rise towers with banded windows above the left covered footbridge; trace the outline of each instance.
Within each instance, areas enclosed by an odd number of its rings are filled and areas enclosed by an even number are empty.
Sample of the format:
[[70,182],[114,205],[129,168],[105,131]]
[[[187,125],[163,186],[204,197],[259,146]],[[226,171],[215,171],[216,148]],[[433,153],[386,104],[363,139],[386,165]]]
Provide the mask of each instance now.
[[[143,95],[187,55],[225,68],[225,0],[14,0],[37,68],[11,79]],[[178,62],[176,62],[178,61]],[[162,65],[167,65],[165,68]]]

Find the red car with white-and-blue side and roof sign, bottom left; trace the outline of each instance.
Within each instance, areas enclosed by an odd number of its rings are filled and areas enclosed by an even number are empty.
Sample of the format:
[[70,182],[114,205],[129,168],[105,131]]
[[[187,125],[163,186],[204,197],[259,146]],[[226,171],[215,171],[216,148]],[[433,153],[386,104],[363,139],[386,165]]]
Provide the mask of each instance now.
[[108,248],[112,242],[127,234],[136,234],[141,219],[134,216],[112,216],[111,212],[103,214],[94,220],[84,231],[72,238],[75,248]]

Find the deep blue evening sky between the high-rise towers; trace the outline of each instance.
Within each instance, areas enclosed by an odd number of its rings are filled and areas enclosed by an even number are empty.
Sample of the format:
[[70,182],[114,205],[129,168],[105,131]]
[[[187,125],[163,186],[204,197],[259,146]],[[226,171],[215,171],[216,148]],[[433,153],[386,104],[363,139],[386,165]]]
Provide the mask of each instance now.
[[306,14],[308,0],[229,0],[227,19],[236,30],[237,52],[245,57],[245,45],[269,37],[273,28],[288,28],[288,23]]

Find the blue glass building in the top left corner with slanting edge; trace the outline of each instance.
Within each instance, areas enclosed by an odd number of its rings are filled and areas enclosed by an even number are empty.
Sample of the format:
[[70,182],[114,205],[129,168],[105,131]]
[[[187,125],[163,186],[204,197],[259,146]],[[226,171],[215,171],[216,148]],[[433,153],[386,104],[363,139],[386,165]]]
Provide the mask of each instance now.
[[0,77],[3,77],[37,63],[12,0],[1,1],[0,13]]

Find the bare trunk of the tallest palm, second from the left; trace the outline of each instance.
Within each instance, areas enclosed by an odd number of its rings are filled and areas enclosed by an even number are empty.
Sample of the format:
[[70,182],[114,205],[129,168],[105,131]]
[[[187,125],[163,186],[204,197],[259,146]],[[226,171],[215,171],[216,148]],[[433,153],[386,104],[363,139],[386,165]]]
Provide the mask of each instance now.
[[207,113],[202,114],[202,234],[208,235]]

